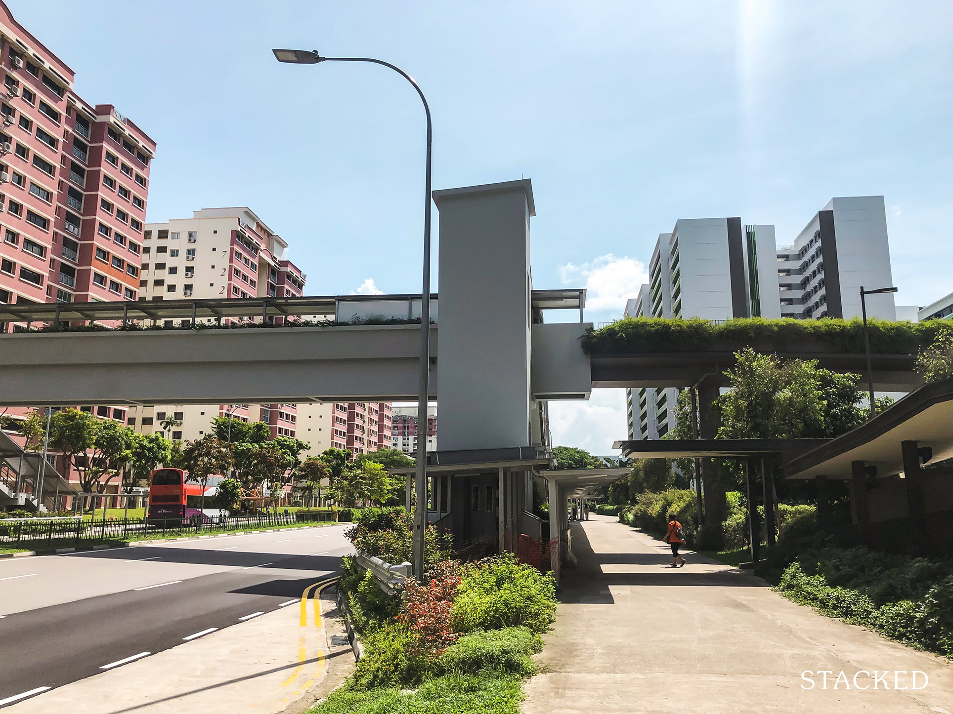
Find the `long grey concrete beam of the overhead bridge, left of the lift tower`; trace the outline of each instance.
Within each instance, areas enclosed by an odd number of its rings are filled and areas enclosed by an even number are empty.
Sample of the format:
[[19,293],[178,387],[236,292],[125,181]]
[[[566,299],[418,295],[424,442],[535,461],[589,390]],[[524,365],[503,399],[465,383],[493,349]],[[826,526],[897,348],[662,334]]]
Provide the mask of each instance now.
[[410,401],[418,341],[415,325],[10,334],[0,406]]

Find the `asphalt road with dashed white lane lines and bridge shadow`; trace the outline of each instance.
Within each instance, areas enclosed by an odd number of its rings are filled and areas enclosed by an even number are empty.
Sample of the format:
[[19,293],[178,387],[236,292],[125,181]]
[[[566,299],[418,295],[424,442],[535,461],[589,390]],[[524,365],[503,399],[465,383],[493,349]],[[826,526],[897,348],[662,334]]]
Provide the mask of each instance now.
[[353,552],[345,527],[0,561],[0,708],[294,606]]

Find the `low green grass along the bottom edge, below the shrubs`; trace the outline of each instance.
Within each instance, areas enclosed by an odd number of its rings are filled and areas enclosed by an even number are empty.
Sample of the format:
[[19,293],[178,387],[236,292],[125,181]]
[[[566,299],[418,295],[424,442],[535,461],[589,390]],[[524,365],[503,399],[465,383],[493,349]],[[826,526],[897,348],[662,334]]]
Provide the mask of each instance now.
[[517,675],[482,671],[444,675],[413,690],[357,691],[345,685],[308,714],[518,714],[523,698],[519,682]]

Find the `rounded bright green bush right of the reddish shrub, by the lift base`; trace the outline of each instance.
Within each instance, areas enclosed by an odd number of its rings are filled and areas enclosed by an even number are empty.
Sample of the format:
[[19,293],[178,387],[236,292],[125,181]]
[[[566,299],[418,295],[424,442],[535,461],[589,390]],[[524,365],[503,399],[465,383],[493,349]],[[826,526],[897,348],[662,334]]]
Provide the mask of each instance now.
[[556,581],[513,553],[466,565],[450,614],[455,632],[525,625],[544,632],[556,619]]

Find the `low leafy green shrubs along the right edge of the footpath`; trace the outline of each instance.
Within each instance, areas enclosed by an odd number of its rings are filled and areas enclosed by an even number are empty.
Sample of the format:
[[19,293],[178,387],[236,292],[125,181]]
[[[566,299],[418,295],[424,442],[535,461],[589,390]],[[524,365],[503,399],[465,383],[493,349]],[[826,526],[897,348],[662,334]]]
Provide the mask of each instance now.
[[922,600],[878,606],[859,590],[831,585],[823,575],[809,575],[796,562],[787,567],[775,589],[825,615],[864,625],[905,645],[953,656],[953,575],[932,585]]

